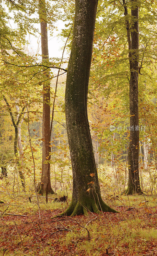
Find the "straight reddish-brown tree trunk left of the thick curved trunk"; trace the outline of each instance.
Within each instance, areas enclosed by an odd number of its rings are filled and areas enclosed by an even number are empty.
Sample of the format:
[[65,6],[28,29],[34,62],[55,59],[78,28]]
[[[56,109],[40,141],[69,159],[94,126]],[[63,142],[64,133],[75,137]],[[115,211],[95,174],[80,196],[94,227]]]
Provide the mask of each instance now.
[[[41,28],[41,48],[43,64],[48,64],[49,51],[48,51],[48,36],[47,36],[47,17],[46,17],[45,1],[39,1],[39,17]],[[45,77],[50,78],[50,70],[44,71]],[[43,82],[43,156],[42,156],[42,175],[39,193],[54,194],[51,188],[50,179],[50,80]]]

